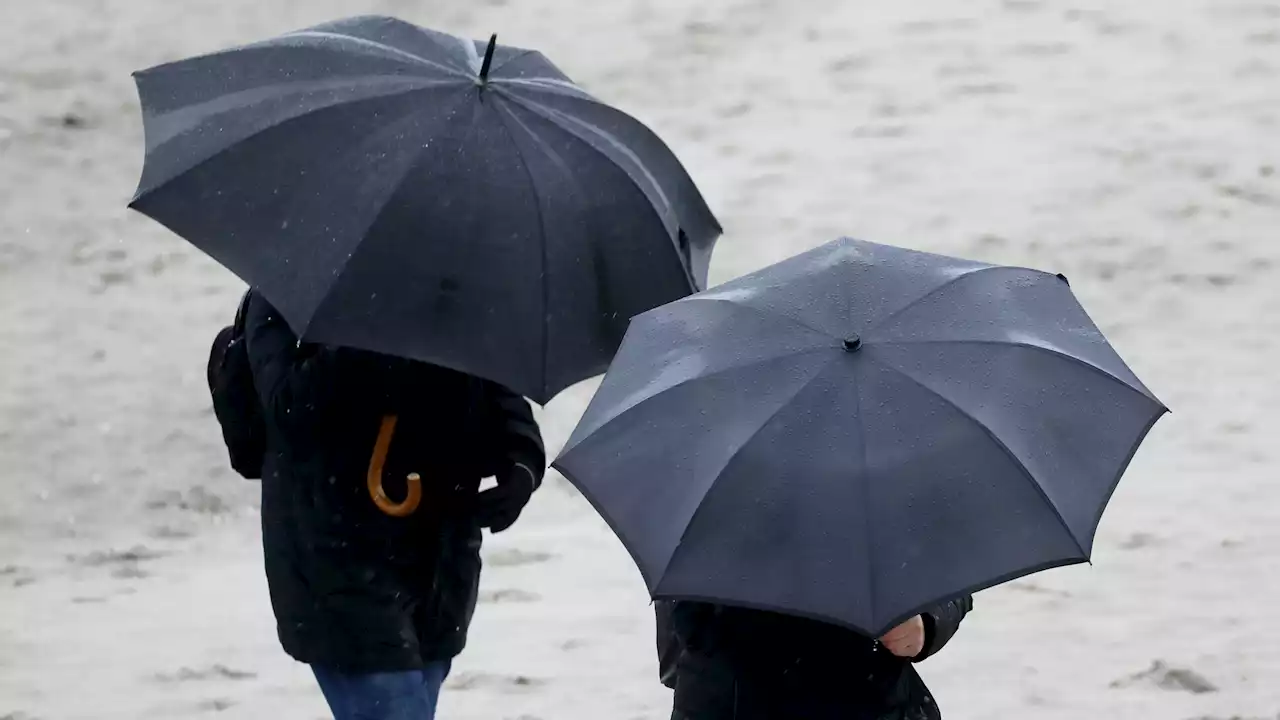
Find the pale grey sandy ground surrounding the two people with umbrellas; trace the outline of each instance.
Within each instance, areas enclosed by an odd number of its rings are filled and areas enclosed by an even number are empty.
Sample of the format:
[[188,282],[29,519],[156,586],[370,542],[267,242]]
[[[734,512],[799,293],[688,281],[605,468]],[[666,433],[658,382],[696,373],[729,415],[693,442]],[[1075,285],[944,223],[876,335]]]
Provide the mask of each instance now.
[[[718,279],[836,234],[1030,264],[1174,414],[1094,566],[983,593],[950,719],[1280,717],[1280,3],[4,0],[0,719],[324,717],[204,387],[233,277],[124,202],[129,72],[361,12],[547,51],[649,122]],[[590,387],[543,413],[558,446]],[[1270,439],[1268,439],[1270,438]],[[563,482],[486,547],[444,719],[659,719],[639,574]]]

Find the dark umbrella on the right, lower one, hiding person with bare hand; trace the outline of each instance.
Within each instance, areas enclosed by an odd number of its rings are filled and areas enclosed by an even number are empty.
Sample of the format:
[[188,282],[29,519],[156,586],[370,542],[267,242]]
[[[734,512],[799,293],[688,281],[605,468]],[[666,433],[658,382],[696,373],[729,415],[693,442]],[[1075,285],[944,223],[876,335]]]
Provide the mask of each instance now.
[[1165,411],[1062,278],[840,240],[636,318],[554,466],[654,597],[879,637],[1085,561]]

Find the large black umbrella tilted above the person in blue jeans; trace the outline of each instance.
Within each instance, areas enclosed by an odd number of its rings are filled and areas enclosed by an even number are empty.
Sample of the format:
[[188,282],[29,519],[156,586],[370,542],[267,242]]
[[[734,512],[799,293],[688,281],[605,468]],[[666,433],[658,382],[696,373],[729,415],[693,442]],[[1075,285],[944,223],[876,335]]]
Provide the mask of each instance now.
[[303,340],[545,402],[705,287],[721,229],[680,161],[539,53],[360,17],[136,79],[131,206]]

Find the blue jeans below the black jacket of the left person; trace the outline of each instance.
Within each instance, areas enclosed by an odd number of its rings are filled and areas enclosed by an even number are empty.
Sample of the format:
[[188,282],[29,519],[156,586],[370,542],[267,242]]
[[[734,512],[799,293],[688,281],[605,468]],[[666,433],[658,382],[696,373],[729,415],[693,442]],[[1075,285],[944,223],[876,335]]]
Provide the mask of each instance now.
[[348,675],[311,666],[334,720],[434,720],[448,660],[421,670]]

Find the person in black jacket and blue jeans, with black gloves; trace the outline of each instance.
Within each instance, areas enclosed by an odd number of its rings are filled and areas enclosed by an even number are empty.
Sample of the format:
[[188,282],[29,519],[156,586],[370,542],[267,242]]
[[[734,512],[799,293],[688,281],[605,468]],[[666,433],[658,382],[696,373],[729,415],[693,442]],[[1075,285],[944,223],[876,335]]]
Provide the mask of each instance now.
[[[300,343],[259,293],[246,352],[266,421],[262,544],[285,652],[312,666],[337,720],[434,716],[466,643],[481,527],[511,527],[541,483],[545,454],[529,404],[454,370]],[[379,510],[366,484],[381,420],[397,416]],[[497,487],[479,492],[481,478]]]

